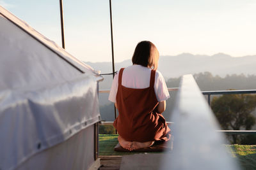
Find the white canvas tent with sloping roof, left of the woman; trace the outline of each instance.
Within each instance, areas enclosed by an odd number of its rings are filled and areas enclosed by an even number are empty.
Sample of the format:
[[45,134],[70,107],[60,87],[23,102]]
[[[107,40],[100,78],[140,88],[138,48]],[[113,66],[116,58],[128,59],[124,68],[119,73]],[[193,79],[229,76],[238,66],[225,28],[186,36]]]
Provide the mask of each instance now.
[[101,79],[0,6],[0,169],[88,169]]

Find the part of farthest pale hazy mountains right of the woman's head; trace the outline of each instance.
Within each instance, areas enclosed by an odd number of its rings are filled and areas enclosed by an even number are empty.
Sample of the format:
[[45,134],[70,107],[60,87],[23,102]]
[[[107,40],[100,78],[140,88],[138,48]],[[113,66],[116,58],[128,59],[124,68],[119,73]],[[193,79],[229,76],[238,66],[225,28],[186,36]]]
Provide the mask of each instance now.
[[195,74],[208,71],[221,77],[227,74],[256,74],[256,55],[231,57],[224,53],[212,56],[182,53],[177,56],[164,56],[159,60],[159,71],[166,78],[182,74]]

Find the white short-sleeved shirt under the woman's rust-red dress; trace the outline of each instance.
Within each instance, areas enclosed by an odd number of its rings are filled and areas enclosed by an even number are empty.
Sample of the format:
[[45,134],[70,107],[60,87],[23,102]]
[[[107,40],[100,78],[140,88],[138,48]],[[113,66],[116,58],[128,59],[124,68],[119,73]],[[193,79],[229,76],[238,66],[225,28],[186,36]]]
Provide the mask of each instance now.
[[[150,85],[151,69],[141,65],[132,65],[124,69],[122,75],[122,85],[132,89],[144,89]],[[116,93],[118,89],[118,73],[115,75],[111,90],[109,92],[109,101],[116,103]],[[166,101],[170,97],[163,75],[156,71],[154,90],[157,101]]]

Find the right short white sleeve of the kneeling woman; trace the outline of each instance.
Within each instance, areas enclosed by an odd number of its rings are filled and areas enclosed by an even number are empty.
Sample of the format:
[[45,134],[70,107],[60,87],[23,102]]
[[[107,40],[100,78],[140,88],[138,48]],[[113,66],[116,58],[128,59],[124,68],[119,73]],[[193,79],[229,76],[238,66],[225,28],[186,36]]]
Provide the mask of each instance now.
[[159,71],[156,71],[154,89],[156,92],[157,101],[166,101],[168,98],[170,98],[164,77]]

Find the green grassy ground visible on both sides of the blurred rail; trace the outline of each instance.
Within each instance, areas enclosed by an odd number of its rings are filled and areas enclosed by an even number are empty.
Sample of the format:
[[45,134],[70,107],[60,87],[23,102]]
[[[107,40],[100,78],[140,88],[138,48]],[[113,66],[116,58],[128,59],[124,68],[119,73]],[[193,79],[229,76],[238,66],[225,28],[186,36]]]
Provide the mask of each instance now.
[[[118,134],[99,134],[99,155],[131,155],[134,152],[115,152]],[[225,145],[243,169],[256,169],[256,145]],[[137,152],[138,153],[138,152]]]

